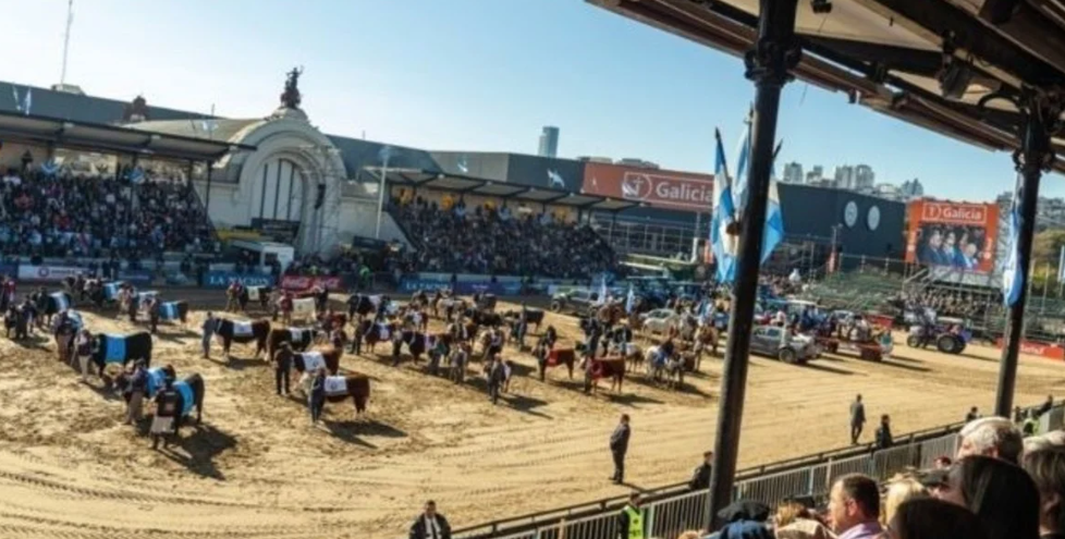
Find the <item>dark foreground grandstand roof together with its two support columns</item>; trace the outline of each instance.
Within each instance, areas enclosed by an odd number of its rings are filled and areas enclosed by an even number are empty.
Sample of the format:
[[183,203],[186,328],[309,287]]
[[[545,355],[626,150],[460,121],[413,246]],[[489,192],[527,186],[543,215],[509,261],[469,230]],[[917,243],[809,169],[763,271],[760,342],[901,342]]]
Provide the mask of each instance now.
[[[995,414],[1009,416],[1024,338],[1039,183],[1065,172],[1063,0],[587,0],[742,56],[755,84],[747,208],[725,351],[707,523],[732,501],[781,89],[793,77],[915,125],[1013,150],[1003,293],[1009,307]],[[1015,175],[1011,169],[1019,172]],[[748,218],[746,216],[758,216]],[[735,234],[735,231],[730,231]]]

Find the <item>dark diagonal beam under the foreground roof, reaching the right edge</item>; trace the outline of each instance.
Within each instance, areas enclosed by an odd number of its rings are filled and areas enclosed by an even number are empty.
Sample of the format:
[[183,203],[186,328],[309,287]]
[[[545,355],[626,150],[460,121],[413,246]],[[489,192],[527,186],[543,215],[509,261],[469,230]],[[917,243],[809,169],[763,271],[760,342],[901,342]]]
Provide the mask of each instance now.
[[1011,41],[970,13],[942,0],[854,0],[889,17],[893,24],[942,40],[951,36],[954,45],[995,68],[1013,73],[1024,83],[1050,87],[1065,84],[1065,72]]

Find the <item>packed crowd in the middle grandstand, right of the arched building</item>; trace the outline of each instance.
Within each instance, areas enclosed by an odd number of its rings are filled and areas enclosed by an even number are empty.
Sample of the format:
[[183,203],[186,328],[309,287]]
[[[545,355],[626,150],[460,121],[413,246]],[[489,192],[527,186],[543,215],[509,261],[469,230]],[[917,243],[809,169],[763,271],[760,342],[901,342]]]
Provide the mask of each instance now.
[[613,249],[590,226],[550,213],[462,200],[441,208],[421,197],[394,199],[392,208],[418,247],[406,271],[592,279],[619,269]]

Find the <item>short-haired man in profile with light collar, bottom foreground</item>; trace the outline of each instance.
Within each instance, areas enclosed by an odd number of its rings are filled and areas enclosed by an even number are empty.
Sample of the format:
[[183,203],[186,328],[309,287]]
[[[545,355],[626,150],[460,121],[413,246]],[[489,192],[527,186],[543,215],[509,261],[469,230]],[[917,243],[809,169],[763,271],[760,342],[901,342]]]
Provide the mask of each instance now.
[[877,481],[861,474],[836,479],[829,498],[829,525],[837,539],[878,539],[883,529]]

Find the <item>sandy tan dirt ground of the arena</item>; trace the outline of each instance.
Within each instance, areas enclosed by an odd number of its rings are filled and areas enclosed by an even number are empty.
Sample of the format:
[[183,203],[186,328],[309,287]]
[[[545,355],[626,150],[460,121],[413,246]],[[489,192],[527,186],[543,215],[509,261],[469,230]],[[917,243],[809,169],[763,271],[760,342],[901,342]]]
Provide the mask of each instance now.
[[[132,329],[110,315],[86,319],[94,331]],[[272,369],[249,350],[235,346],[225,363],[216,346],[215,360],[200,359],[201,320],[197,311],[187,329],[164,327],[156,341],[154,364],[207,383],[204,426],[186,427],[169,452],[124,427],[121,402],[98,381],[81,383],[51,342],[0,339],[0,537],[394,539],[430,498],[463,527],[626,492],[607,480],[620,413],[633,417],[627,480],[637,487],[686,479],[713,440],[720,359],[703,360],[685,393],[637,375],[620,395],[586,396],[564,371],[547,383],[527,376],[531,359],[509,350],[521,368],[512,394],[492,406],[482,382],[455,387],[409,362],[394,369],[348,355],[344,369],[372,377],[368,417],[329,405],[326,426],[313,428],[303,401],[276,396]],[[548,322],[577,333],[573,318]],[[751,358],[740,465],[844,445],[859,392],[869,417],[891,414],[896,433],[990,407],[997,351],[897,346],[884,364]],[[1023,359],[1018,402],[1063,390],[1065,364]]]

